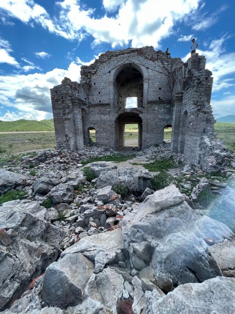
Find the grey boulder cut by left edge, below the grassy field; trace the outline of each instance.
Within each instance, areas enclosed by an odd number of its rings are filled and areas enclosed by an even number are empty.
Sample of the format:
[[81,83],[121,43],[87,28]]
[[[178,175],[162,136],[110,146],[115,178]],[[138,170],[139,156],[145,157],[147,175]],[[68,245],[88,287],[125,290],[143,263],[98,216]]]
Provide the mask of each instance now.
[[27,177],[11,172],[5,169],[0,169],[0,195],[17,186],[24,185]]

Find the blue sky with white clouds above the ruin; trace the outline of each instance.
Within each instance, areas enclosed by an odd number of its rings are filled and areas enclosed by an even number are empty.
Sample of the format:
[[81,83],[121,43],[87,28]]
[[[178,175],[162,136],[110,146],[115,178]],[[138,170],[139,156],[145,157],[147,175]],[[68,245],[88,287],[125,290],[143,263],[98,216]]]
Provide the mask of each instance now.
[[168,47],[186,61],[192,37],[215,117],[235,114],[234,12],[234,0],[0,0],[0,120],[51,118],[49,88],[102,52]]

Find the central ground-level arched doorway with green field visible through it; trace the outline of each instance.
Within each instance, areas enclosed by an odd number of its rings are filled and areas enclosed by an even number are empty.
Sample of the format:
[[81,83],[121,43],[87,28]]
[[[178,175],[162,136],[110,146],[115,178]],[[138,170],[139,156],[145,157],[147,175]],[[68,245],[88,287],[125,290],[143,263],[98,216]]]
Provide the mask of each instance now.
[[[131,128],[135,128],[133,129]],[[130,132],[127,132],[127,129]],[[128,135],[127,133],[132,133]],[[133,134],[134,133],[134,134]],[[142,147],[142,119],[138,113],[121,113],[115,123],[115,146]]]

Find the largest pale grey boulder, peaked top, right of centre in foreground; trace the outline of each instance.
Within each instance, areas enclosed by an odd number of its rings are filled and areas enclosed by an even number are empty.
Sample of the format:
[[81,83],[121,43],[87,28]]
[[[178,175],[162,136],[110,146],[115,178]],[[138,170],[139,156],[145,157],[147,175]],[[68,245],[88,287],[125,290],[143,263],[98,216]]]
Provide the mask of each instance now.
[[125,215],[121,230],[131,267],[165,291],[221,275],[174,185],[156,191],[136,213]]

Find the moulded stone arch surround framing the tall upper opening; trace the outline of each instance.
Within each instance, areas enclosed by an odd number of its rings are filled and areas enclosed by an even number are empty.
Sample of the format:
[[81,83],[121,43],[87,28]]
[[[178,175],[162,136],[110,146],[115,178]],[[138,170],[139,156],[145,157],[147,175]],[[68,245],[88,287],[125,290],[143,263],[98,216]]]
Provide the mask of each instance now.
[[[147,99],[148,99],[148,81],[149,81],[149,73],[145,66],[134,59],[126,59],[118,64],[115,65],[113,70],[110,71],[109,76],[109,92],[110,92],[110,107],[111,110],[119,108],[120,104],[118,104],[118,97],[117,97],[117,84],[116,80],[118,74],[121,71],[125,71],[126,69],[132,69],[131,71],[133,74],[140,73],[142,76],[142,100],[141,106],[147,106]],[[139,105],[140,105],[139,104]],[[120,109],[120,108],[119,108]]]

